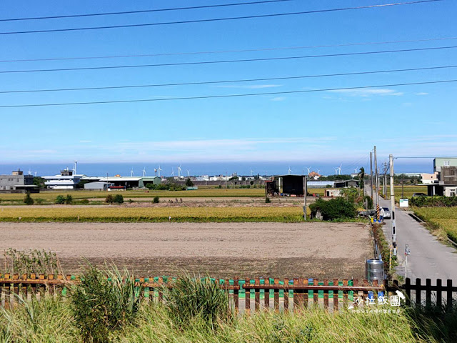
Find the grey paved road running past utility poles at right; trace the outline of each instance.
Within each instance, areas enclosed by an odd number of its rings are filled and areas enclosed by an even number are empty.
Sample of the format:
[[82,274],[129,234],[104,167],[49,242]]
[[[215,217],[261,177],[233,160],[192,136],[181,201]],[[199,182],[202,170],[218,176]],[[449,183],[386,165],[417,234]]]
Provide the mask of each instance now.
[[[390,206],[389,200],[381,199],[382,207]],[[398,246],[397,273],[405,275],[405,244],[409,244],[411,255],[408,256],[408,277],[423,279],[453,279],[457,284],[457,249],[438,242],[428,230],[411,218],[405,211],[396,208],[396,231]],[[391,221],[386,220],[383,227],[388,239],[391,239]],[[434,284],[434,282],[432,282]]]

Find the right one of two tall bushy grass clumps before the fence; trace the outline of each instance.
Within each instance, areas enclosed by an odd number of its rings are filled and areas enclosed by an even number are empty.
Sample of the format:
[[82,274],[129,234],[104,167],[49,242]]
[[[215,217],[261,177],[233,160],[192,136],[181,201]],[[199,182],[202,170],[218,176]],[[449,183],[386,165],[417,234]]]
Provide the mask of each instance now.
[[213,328],[218,320],[229,318],[229,294],[209,277],[183,274],[173,288],[164,289],[164,299],[171,319],[179,327],[199,318]]

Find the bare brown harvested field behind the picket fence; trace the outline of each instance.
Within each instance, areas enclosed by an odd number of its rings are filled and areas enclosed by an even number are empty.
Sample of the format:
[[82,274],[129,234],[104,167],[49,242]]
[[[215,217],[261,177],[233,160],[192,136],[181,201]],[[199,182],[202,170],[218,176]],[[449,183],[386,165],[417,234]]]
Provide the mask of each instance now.
[[360,223],[0,223],[0,249],[51,249],[64,272],[83,258],[138,275],[180,269],[218,277],[364,277],[371,257]]

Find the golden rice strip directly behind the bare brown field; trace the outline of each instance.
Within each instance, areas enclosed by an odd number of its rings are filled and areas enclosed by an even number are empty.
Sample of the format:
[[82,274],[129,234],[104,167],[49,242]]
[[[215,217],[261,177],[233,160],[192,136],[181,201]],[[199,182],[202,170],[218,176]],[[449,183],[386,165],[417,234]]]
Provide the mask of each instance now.
[[302,207],[2,207],[0,222],[302,222]]

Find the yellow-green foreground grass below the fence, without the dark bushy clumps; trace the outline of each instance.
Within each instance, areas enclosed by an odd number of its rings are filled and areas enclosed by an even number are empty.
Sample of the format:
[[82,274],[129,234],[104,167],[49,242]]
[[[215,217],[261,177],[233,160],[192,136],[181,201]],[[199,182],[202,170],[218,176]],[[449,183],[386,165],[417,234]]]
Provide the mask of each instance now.
[[[0,342],[84,342],[66,300],[34,301],[33,315],[25,306],[1,311]],[[427,339],[429,338],[429,339]],[[306,309],[302,314],[261,312],[233,317],[209,329],[201,317],[179,327],[164,306],[144,304],[131,324],[109,332],[106,342],[453,342],[418,337],[407,315]],[[455,341],[454,341],[455,342]]]

